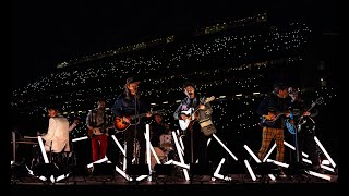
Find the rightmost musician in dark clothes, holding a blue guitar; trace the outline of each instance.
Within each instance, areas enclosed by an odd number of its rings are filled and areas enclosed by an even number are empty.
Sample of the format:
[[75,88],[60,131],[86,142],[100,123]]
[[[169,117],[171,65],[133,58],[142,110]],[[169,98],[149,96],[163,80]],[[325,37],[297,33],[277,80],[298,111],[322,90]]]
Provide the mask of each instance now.
[[[311,170],[323,173],[322,168],[320,167],[320,155],[316,149],[316,144],[314,140],[315,136],[315,121],[313,117],[318,114],[317,109],[310,108],[311,103],[304,99],[304,96],[300,97],[300,91],[297,87],[288,88],[289,95],[292,98],[292,110],[299,110],[300,114],[294,115],[293,122],[297,127],[297,151],[296,151],[296,161],[303,164],[302,162],[302,152],[309,155],[311,160]],[[304,168],[304,166],[302,167]]]

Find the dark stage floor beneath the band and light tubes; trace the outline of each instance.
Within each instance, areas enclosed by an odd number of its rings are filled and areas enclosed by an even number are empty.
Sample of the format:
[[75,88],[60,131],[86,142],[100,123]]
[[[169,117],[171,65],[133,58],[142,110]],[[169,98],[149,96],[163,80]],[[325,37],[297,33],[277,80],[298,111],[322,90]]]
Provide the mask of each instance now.
[[[128,181],[122,175],[70,175],[58,182],[43,181],[36,176],[22,176],[11,180],[11,195],[31,193],[298,193],[339,194],[338,175],[325,174],[330,180],[313,175],[297,174],[272,180],[257,176],[252,180],[249,174],[229,174],[228,179],[217,179],[212,175],[192,176],[185,181],[178,175],[159,175],[145,177],[141,181]],[[310,191],[310,192],[309,192]]]

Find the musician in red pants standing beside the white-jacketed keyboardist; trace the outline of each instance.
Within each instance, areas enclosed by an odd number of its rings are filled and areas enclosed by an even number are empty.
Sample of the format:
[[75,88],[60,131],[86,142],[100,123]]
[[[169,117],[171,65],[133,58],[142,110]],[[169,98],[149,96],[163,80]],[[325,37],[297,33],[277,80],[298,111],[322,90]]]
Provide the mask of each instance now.
[[110,124],[110,117],[106,111],[106,100],[101,98],[97,101],[97,108],[89,110],[86,115],[87,135],[91,138],[93,162],[106,156]]

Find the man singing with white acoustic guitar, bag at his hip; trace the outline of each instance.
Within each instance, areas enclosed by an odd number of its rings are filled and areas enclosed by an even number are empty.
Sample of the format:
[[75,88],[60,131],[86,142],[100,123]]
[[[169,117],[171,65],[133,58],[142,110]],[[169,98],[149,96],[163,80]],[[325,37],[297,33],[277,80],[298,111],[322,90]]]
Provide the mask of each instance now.
[[[191,119],[190,125],[184,132],[184,162],[195,163],[198,159],[198,163],[208,164],[207,160],[207,140],[216,128],[210,120],[210,114],[213,109],[209,102],[203,103],[204,97],[195,93],[195,85],[191,82],[185,82],[183,84],[183,91],[185,98],[181,101],[180,106],[173,113],[174,120],[185,121],[189,118],[185,111],[197,108],[197,112],[193,113],[195,117]],[[209,130],[210,134],[205,134],[202,132],[203,128]]]

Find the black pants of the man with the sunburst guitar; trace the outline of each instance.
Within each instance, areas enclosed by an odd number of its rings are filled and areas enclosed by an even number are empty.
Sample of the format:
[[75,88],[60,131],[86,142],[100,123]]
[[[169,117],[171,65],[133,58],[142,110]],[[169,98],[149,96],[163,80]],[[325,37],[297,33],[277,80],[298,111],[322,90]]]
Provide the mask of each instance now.
[[[133,158],[135,158],[136,164],[145,164],[145,127],[142,126],[143,125],[130,125],[128,130],[124,131],[124,142],[127,143],[127,166],[132,164]],[[135,150],[135,142],[139,144],[139,150]]]

